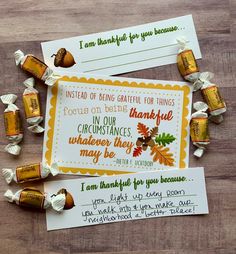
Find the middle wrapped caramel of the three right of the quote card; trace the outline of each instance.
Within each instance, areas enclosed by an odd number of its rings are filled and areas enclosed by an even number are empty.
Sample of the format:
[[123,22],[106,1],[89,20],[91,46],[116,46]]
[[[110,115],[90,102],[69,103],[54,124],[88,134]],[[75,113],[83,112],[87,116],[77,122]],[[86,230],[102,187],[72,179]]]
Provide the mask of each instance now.
[[202,95],[208,105],[210,119],[213,122],[223,121],[222,114],[226,112],[226,104],[220,95],[219,88],[210,80],[214,77],[211,72],[203,72],[193,84],[194,91],[201,89]]

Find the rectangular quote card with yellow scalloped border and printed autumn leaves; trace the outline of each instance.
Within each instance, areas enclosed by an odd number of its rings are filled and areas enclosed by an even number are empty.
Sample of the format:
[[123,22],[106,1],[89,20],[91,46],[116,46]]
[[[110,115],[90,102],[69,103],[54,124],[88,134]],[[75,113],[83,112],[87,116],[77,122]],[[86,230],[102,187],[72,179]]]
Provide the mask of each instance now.
[[43,162],[82,175],[186,168],[191,102],[185,82],[64,76],[48,88]]

